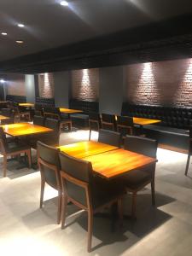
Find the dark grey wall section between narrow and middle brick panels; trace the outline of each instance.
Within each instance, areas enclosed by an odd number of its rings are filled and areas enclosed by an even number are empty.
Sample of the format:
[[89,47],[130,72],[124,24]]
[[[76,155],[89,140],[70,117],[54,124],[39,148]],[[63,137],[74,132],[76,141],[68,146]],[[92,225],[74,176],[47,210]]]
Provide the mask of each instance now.
[[55,107],[68,108],[70,97],[70,72],[57,72],[54,73],[55,82]]

